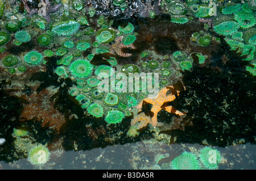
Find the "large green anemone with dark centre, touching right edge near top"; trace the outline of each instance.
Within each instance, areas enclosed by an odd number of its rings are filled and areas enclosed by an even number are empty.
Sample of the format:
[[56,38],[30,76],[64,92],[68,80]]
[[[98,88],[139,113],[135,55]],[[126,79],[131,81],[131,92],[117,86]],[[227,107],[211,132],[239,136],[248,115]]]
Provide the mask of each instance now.
[[248,29],[256,24],[256,18],[254,14],[248,13],[246,11],[240,10],[234,14],[234,19],[243,29]]

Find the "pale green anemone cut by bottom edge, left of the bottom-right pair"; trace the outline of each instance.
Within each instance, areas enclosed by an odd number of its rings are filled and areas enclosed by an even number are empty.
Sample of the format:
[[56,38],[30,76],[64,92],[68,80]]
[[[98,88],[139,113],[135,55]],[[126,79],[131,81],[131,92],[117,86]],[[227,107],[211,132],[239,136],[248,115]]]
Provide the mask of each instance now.
[[174,170],[199,170],[200,164],[195,154],[184,151],[174,158],[171,162],[171,167]]

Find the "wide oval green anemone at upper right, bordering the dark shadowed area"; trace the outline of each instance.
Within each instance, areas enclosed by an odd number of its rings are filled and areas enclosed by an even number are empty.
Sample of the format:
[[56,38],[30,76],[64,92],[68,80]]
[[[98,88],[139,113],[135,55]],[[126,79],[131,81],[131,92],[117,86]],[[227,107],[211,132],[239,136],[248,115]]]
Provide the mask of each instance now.
[[213,30],[218,33],[219,35],[232,35],[233,33],[236,33],[239,24],[234,21],[228,21],[228,22],[222,22],[216,26],[214,26]]

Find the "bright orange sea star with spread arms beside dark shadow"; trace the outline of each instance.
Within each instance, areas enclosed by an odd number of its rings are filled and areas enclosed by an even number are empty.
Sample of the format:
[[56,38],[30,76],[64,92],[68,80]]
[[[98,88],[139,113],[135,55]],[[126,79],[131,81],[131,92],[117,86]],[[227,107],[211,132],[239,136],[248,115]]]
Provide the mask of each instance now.
[[[156,127],[158,125],[158,112],[161,110],[166,110],[167,112],[175,113],[176,115],[179,115],[179,116],[185,115],[183,112],[175,110],[175,108],[172,106],[162,107],[164,103],[172,102],[176,98],[174,94],[166,95],[167,92],[171,89],[174,90],[174,87],[173,86],[164,87],[163,89],[161,89],[159,91],[158,96],[156,96],[156,98],[154,98],[154,99],[145,98],[137,106],[137,109],[141,110],[143,102],[152,104],[151,112],[154,113],[154,116],[151,117],[151,121],[149,121],[149,120],[147,120],[147,121],[148,121],[148,123],[151,123],[153,125],[153,127]],[[179,95],[179,91],[177,91],[177,95]]]

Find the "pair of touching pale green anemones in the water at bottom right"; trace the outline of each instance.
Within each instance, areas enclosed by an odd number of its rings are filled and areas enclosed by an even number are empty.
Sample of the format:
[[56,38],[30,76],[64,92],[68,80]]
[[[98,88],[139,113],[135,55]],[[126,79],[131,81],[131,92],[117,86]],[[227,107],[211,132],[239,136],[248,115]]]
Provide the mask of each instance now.
[[200,150],[199,159],[196,154],[184,151],[172,160],[171,168],[174,170],[216,170],[220,161],[220,151],[206,146]]

